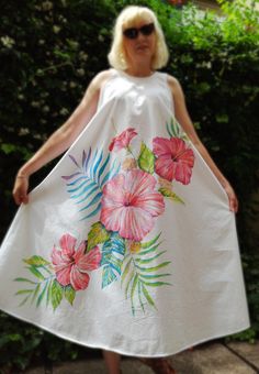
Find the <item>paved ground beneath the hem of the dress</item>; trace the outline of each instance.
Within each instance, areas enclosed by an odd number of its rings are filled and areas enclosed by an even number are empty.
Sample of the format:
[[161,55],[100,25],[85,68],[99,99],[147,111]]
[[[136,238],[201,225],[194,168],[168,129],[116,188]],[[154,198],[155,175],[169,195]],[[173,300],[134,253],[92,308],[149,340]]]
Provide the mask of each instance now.
[[[205,343],[170,356],[178,374],[255,374],[259,373],[259,342]],[[151,374],[151,370],[136,359],[124,358],[123,374]],[[105,374],[101,356],[83,361],[64,362],[53,367],[38,366],[25,374]],[[16,374],[16,373],[15,373]],[[19,374],[19,373],[18,373]]]

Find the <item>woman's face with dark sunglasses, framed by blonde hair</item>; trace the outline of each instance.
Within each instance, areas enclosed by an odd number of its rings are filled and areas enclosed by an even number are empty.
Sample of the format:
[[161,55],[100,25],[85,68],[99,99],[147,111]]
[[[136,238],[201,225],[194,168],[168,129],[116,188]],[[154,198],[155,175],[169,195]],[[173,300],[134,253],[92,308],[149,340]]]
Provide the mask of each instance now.
[[[153,56],[156,52],[156,31],[155,29],[151,30],[151,20],[137,20],[130,26],[123,29],[123,31],[133,29],[131,30],[132,33],[130,31],[130,34],[135,35],[134,38],[123,35],[125,57],[130,67],[138,63],[148,64],[150,67]],[[142,29],[143,26],[144,29]]]

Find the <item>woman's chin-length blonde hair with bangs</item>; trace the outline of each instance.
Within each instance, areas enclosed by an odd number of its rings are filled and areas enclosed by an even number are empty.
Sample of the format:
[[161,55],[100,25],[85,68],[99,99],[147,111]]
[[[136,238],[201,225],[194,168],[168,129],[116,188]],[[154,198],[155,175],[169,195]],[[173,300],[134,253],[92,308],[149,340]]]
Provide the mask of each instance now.
[[115,69],[125,70],[128,67],[123,47],[123,30],[134,26],[138,20],[153,22],[155,25],[156,52],[151,61],[151,68],[156,70],[167,65],[169,53],[156,14],[146,7],[130,6],[119,14],[113,30],[113,42],[108,59]]

